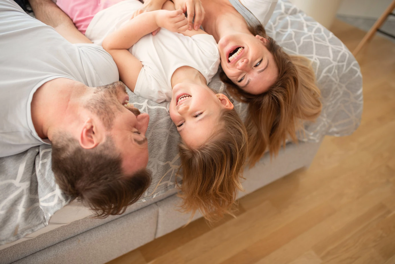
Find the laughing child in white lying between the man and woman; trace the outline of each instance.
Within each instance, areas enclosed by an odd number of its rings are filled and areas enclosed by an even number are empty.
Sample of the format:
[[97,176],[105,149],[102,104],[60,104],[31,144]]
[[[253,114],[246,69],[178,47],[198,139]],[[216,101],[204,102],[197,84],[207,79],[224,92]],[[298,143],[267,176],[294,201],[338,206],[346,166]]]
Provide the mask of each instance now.
[[[72,13],[62,0],[58,5]],[[241,189],[247,134],[228,97],[207,86],[219,66],[217,44],[203,30],[187,30],[181,10],[156,10],[130,19],[141,6],[124,0],[103,9],[85,34],[113,56],[120,80],[134,93],[171,101],[170,116],[181,135],[182,207],[199,210],[210,220],[222,217]],[[164,7],[174,9],[169,1]],[[158,27],[162,29],[155,36],[150,34]]]

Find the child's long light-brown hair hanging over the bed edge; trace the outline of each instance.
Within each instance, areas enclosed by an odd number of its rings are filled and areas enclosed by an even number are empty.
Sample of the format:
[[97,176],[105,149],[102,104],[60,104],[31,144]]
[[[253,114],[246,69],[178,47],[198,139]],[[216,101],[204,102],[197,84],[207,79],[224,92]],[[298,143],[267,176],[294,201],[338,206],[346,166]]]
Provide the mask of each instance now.
[[181,211],[196,211],[207,220],[231,213],[238,190],[242,190],[247,158],[247,131],[237,112],[222,110],[218,129],[198,148],[179,144]]

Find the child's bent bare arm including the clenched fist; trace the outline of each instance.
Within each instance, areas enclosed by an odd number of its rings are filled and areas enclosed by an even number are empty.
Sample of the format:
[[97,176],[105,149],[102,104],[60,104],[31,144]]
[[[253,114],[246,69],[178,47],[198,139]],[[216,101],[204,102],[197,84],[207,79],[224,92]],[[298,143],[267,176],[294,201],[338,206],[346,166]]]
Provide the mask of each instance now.
[[120,80],[132,91],[143,65],[128,49],[158,27],[179,32],[188,28],[188,21],[182,10],[145,12],[109,34],[103,41],[103,48],[111,54],[117,64]]

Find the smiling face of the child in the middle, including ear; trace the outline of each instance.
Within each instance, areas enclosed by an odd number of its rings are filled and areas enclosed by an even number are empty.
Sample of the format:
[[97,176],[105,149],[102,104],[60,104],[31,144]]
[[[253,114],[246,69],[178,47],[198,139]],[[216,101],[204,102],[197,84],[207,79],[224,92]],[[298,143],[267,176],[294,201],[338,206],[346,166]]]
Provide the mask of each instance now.
[[177,84],[173,87],[170,117],[185,144],[197,147],[205,142],[219,124],[222,109],[233,109],[228,97],[207,86]]

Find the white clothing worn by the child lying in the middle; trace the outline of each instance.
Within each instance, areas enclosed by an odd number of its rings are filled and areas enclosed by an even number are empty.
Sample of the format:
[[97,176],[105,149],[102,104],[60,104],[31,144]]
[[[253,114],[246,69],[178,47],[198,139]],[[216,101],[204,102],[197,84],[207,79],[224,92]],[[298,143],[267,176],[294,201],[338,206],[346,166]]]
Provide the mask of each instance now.
[[[104,38],[129,21],[142,5],[138,0],[124,0],[103,9],[93,17],[85,36],[102,45]],[[143,36],[129,51],[143,64],[134,93],[157,103],[171,101],[171,76],[177,68],[195,68],[208,84],[220,64],[218,45],[209,34],[188,37],[162,28],[155,36]]]

